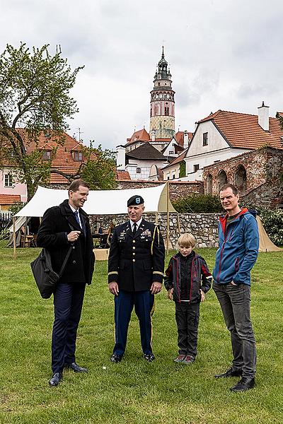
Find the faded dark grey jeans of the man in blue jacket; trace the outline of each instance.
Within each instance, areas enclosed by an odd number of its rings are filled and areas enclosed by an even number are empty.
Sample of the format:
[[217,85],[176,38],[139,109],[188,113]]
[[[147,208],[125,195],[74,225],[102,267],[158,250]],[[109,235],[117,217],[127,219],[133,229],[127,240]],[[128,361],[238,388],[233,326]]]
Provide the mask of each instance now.
[[250,322],[250,286],[216,284],[212,286],[231,333],[233,370],[243,370],[243,377],[255,377],[256,351],[253,325]]

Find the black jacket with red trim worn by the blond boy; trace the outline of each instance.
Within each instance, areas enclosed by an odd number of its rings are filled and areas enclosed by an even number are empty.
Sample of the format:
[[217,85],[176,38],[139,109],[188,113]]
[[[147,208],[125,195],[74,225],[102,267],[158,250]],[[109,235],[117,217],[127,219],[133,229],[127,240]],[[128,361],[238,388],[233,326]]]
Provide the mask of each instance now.
[[[166,269],[166,278],[164,285],[166,290],[173,288],[173,300],[181,302],[181,276],[183,276],[183,261],[181,261],[181,254],[175,254],[171,257],[168,268]],[[187,290],[188,299],[190,303],[200,302],[201,295],[200,289],[207,293],[211,287],[212,274],[209,272],[206,261],[197,253],[192,252],[192,266],[187,275]]]

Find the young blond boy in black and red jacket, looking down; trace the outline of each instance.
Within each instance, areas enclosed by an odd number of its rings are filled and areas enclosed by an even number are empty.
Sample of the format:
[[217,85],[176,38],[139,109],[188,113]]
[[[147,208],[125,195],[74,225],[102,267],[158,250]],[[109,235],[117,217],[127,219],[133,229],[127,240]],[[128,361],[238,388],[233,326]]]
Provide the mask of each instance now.
[[192,250],[195,247],[192,234],[181,235],[178,247],[179,252],[169,261],[164,283],[168,298],[175,301],[179,355],[174,361],[192,364],[197,356],[200,302],[211,286],[212,274],[206,261]]

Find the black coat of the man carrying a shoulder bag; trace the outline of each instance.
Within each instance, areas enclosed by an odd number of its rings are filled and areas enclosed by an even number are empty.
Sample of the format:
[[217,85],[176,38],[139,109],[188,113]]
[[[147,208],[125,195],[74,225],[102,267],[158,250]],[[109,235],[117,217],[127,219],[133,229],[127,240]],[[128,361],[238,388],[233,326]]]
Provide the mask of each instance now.
[[76,221],[69,201],[65,200],[59,206],[47,209],[37,233],[37,246],[48,249],[52,268],[58,273],[70,247],[67,235],[72,228],[81,231],[60,278],[61,283],[91,284],[95,261],[93,239],[87,213],[79,208],[79,214],[83,228]]

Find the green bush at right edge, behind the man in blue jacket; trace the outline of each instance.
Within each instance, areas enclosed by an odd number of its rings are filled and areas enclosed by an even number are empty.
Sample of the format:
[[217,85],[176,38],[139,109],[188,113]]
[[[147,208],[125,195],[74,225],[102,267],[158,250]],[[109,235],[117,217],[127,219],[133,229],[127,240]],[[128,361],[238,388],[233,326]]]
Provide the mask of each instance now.
[[283,246],[283,210],[258,208],[258,215],[270,240]]

